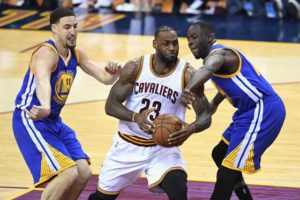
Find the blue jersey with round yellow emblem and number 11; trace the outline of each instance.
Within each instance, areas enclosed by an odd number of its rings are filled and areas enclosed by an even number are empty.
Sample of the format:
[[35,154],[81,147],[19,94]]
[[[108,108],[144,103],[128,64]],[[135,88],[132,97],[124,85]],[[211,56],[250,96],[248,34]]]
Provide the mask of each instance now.
[[[53,40],[48,40],[41,46],[51,47],[57,54],[57,48]],[[68,59],[65,61],[59,56],[58,64],[53,69],[51,83],[51,114],[50,118],[57,118],[68,98],[73,80],[77,72],[79,56],[76,49],[70,50]],[[17,95],[15,104],[17,108],[30,110],[33,105],[40,105],[36,95],[36,78],[29,66],[25,75],[22,88]]]

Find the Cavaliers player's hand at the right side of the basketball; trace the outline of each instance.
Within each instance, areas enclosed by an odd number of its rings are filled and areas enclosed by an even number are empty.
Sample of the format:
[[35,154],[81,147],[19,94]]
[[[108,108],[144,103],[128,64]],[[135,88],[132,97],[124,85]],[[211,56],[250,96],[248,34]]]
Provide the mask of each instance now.
[[171,146],[180,146],[186,141],[195,131],[194,125],[182,122],[182,128],[179,131],[172,133],[169,136],[168,142]]

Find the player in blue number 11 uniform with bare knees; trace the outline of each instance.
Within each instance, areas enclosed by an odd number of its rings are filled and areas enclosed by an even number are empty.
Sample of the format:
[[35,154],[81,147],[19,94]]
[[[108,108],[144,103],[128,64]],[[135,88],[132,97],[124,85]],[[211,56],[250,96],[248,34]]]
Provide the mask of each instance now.
[[59,116],[77,66],[104,84],[112,84],[121,68],[114,62],[100,68],[75,48],[77,21],[72,10],[54,10],[50,25],[53,37],[33,52],[17,95],[13,131],[35,186],[48,182],[41,199],[71,200],[91,176],[89,157]]

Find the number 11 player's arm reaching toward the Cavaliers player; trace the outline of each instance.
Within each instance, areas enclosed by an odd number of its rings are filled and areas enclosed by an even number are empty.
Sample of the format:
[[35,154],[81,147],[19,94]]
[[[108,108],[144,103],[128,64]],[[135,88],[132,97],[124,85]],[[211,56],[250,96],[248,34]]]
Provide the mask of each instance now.
[[86,53],[78,49],[79,52],[79,66],[82,70],[100,81],[105,85],[113,84],[118,78],[122,71],[120,64],[108,61],[105,67],[99,67],[95,62],[88,58]]

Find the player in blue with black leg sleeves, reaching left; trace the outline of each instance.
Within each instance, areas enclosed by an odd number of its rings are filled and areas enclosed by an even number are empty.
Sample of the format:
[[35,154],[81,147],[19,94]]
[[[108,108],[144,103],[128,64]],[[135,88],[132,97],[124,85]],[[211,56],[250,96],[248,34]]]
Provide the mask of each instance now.
[[273,143],[285,119],[285,107],[271,85],[238,50],[216,43],[213,28],[198,22],[188,29],[188,45],[203,66],[193,75],[182,102],[193,99],[191,91],[211,79],[218,93],[210,102],[212,114],[226,98],[237,109],[222,140],[212,151],[218,166],[212,200],[252,199],[242,172],[260,169],[264,151]]

